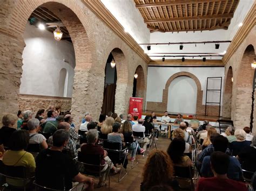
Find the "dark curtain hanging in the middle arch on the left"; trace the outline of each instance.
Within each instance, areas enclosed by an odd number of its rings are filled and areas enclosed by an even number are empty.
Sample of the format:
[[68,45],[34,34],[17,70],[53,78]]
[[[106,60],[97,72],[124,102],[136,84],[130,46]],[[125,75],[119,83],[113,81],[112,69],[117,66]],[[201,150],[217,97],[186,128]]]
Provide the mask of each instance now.
[[114,95],[116,95],[116,84],[106,84],[104,89],[102,114],[107,114],[109,111],[114,112]]

